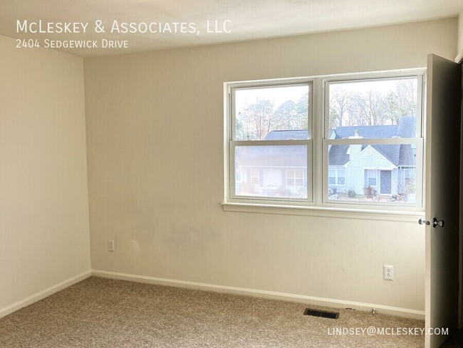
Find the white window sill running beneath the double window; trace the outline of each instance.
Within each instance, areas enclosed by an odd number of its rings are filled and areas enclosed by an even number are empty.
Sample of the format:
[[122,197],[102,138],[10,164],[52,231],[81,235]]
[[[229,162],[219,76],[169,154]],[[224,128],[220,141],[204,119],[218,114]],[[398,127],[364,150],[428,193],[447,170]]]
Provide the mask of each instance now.
[[322,218],[342,218],[360,220],[400,221],[417,223],[424,212],[397,212],[391,210],[359,210],[349,208],[306,207],[288,205],[269,205],[255,203],[222,203],[226,212],[264,213],[281,215],[306,215]]

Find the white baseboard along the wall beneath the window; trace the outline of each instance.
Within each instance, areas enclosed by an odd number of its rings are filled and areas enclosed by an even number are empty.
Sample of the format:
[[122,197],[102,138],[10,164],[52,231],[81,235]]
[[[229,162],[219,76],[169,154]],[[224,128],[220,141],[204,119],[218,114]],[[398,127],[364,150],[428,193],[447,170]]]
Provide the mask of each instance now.
[[389,306],[383,306],[383,305],[373,305],[370,303],[362,303],[362,302],[332,300],[332,299],[326,299],[323,297],[312,297],[312,296],[306,296],[306,295],[288,294],[286,292],[246,289],[244,287],[227,287],[224,285],[214,285],[214,284],[206,284],[206,283],[199,283],[199,282],[185,282],[182,280],[147,277],[144,275],[129,275],[127,273],[108,272],[108,271],[102,271],[102,270],[92,270],[92,275],[94,275],[95,277],[103,277],[103,278],[118,279],[118,280],[129,280],[131,282],[168,285],[171,287],[184,287],[187,289],[223,292],[227,294],[247,295],[247,296],[254,296],[254,297],[262,297],[262,298],[271,299],[271,300],[301,302],[301,303],[308,304],[308,305],[318,305],[318,306],[326,306],[326,307],[334,307],[334,308],[352,308],[352,309],[362,310],[365,312],[370,312],[371,309],[375,308],[376,312],[381,313],[381,314],[390,314],[390,315],[395,315],[397,317],[425,320],[425,312],[415,310],[415,309],[389,307]]

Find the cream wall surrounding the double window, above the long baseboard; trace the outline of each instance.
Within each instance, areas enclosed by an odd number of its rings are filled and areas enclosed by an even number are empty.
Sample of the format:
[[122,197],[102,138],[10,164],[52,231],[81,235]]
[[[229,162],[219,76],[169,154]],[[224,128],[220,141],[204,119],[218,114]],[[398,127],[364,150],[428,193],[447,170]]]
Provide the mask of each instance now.
[[417,223],[222,210],[223,83],[419,68],[456,44],[446,19],[85,59],[93,269],[424,310]]

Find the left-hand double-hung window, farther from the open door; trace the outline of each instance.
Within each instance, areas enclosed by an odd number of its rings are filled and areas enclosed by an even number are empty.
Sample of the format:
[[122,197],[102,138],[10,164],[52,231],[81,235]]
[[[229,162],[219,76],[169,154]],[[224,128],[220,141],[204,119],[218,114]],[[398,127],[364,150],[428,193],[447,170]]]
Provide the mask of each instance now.
[[311,81],[228,87],[229,200],[311,202]]

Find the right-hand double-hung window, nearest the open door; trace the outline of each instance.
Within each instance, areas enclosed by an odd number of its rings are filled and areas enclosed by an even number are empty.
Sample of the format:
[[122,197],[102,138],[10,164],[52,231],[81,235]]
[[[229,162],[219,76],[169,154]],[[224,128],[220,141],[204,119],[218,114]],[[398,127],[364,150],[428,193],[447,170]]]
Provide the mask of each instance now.
[[[421,207],[422,75],[330,78],[325,86],[323,202]],[[330,195],[336,166],[345,168],[345,188]]]

